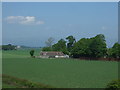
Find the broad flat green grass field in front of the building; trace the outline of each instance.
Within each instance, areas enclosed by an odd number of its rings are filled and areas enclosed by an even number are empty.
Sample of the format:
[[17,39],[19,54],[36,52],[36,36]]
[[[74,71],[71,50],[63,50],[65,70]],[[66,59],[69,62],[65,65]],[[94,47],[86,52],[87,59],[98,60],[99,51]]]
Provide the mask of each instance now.
[[56,88],[104,88],[118,78],[118,62],[36,59],[29,50],[3,51],[2,63],[3,74]]

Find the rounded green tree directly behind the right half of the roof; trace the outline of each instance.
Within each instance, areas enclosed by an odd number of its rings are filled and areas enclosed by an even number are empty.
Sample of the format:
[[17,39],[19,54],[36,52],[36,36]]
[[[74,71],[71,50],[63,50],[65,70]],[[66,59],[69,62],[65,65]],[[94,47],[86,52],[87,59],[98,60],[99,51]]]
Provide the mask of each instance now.
[[52,46],[53,51],[62,51],[64,54],[68,54],[66,48],[66,41],[64,39],[60,39],[56,44]]

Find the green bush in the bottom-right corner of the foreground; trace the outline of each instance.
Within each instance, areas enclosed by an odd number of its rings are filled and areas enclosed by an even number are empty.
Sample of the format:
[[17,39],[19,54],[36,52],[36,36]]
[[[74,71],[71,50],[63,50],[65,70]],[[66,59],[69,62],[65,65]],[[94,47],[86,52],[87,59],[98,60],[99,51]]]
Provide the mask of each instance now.
[[120,90],[120,80],[113,80],[107,85],[106,90]]

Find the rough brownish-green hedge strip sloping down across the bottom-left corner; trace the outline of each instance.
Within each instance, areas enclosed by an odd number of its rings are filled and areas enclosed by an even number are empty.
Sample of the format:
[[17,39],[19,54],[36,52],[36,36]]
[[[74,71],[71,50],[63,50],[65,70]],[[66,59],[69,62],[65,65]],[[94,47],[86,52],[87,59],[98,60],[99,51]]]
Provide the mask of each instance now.
[[16,86],[18,88],[54,88],[50,85],[36,83],[26,79],[20,79],[20,78],[5,75],[5,74],[2,74],[2,83],[5,83],[11,86]]

